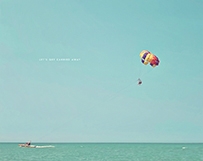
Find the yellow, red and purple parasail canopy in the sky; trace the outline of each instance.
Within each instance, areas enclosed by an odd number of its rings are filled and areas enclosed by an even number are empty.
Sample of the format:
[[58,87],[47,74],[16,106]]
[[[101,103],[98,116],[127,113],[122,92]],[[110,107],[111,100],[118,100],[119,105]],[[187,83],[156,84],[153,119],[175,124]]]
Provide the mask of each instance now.
[[159,59],[147,50],[143,50],[140,53],[140,58],[143,64],[147,65],[150,63],[152,67],[159,65]]

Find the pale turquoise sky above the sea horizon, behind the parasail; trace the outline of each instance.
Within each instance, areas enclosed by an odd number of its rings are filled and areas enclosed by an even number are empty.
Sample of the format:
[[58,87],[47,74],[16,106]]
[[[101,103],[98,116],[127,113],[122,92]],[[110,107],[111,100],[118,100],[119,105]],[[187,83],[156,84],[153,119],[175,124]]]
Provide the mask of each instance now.
[[0,142],[203,142],[202,6],[1,0]]

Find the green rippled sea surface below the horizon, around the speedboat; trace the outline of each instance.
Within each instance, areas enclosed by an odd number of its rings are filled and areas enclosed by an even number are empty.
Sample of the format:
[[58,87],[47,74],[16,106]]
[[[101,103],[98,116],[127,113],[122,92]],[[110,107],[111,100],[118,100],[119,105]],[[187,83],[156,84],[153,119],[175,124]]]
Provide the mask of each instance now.
[[0,143],[0,161],[203,161],[203,144]]

